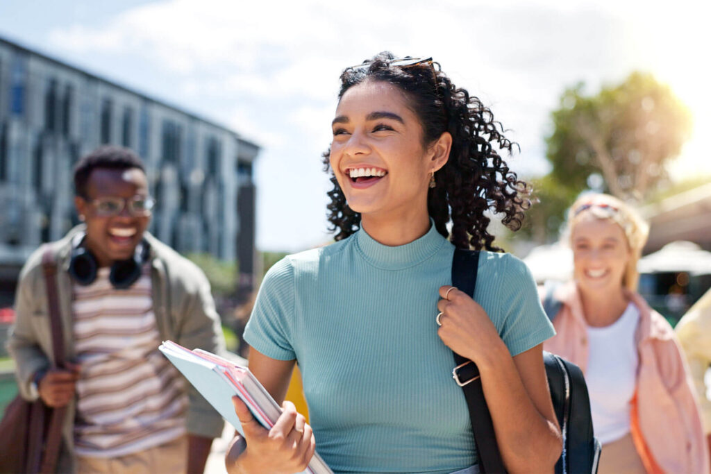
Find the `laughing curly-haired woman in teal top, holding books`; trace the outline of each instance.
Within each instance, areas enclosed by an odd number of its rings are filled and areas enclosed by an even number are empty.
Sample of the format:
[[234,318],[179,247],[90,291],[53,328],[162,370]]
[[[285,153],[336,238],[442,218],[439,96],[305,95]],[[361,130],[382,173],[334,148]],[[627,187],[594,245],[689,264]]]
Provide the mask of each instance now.
[[[553,330],[528,269],[487,232],[488,211],[517,228],[528,205],[496,151],[511,142],[431,59],[380,53],[343,71],[338,97],[324,155],[337,242],[274,265],[245,331],[278,402],[298,361],[313,430],[287,403],[267,431],[237,400],[246,443],[228,470],[298,472],[316,443],[336,472],[479,472],[454,350],[479,366],[508,472],[552,472]],[[451,286],[455,247],[484,249],[474,299]]]

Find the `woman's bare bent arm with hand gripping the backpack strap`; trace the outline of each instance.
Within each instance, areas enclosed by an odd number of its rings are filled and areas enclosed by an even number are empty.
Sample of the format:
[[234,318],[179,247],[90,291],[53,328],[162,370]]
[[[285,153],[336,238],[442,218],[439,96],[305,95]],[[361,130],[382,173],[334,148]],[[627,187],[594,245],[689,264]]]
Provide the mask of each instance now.
[[[511,357],[486,311],[469,295],[439,289],[447,347],[476,362],[501,458],[509,473],[553,472],[562,451],[543,365],[542,345]],[[449,296],[449,300],[444,299]]]

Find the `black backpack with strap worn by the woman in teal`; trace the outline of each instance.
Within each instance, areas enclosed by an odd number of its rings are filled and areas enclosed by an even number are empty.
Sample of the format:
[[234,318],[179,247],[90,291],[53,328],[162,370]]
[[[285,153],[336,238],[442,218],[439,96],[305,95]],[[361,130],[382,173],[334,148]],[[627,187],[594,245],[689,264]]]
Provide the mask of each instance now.
[[[479,252],[464,249],[454,250],[451,270],[452,285],[472,298],[474,298],[478,266]],[[558,309],[560,309],[560,305]],[[550,316],[549,318],[552,320]],[[454,359],[459,365],[462,363],[463,357],[454,353]],[[543,352],[543,362],[553,409],[563,438],[563,451],[555,464],[555,473],[596,474],[601,446],[593,435],[590,399],[582,371],[572,362],[550,352]],[[472,365],[474,363],[469,364],[469,366]],[[462,389],[464,389],[474,429],[474,441],[479,453],[481,473],[504,472],[501,454],[498,452],[496,438],[493,434],[491,415],[488,413],[481,389],[481,379],[466,384]],[[480,449],[480,446],[486,446],[486,448]]]

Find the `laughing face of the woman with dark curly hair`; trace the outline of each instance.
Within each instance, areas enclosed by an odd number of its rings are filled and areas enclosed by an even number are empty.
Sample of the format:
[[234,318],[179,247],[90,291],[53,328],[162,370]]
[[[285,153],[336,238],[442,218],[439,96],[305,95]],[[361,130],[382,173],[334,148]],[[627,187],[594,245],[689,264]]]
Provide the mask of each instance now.
[[351,87],[332,128],[331,168],[352,210],[363,217],[427,215],[429,176],[447,162],[449,149],[444,159],[437,146],[424,149],[422,125],[397,87]]

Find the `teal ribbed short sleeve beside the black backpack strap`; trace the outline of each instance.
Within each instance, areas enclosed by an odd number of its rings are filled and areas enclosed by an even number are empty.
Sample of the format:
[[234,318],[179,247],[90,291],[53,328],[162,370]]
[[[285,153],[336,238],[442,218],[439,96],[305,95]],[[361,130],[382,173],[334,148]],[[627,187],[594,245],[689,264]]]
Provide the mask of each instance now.
[[501,339],[514,356],[552,338],[555,329],[545,316],[528,266],[510,254],[505,256],[503,262],[506,268],[499,301],[503,314]]

